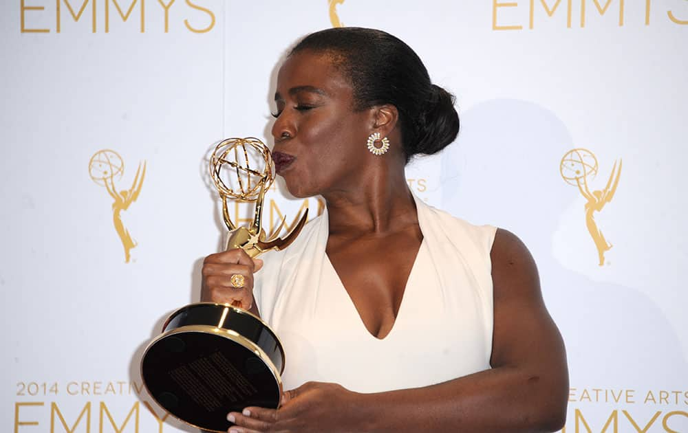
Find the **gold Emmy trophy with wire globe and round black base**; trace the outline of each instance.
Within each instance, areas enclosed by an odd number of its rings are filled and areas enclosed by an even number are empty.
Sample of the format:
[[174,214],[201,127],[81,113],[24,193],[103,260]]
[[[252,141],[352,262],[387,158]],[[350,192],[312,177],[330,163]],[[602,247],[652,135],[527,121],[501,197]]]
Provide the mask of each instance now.
[[[275,179],[270,151],[253,137],[230,138],[215,147],[211,177],[222,199],[222,216],[230,230],[227,249],[241,248],[251,258],[270,249],[286,248],[308,218],[284,238],[284,221],[266,236],[261,227],[265,192]],[[228,199],[255,201],[248,227],[229,217]],[[232,276],[241,287],[241,275]],[[172,313],[162,334],[149,344],[141,376],[149,394],[173,417],[196,428],[226,432],[226,414],[246,406],[277,408],[282,392],[284,351],[277,335],[241,302],[189,304]]]

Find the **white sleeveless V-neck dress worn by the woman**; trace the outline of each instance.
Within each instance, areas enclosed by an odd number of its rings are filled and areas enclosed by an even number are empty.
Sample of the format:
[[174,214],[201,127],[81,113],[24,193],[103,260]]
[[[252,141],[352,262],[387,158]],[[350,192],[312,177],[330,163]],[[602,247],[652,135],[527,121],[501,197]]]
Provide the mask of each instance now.
[[394,327],[382,340],[365,328],[325,254],[327,212],[303,227],[290,247],[264,255],[254,295],[286,353],[285,390],[323,381],[380,392],[490,368],[496,229],[471,225],[419,199],[416,207],[423,241]]

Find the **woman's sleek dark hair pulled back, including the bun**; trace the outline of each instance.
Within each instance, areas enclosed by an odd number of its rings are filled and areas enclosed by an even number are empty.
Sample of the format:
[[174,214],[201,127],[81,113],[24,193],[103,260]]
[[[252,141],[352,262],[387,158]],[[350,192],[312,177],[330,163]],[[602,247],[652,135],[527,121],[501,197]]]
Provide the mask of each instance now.
[[399,111],[407,162],[412,155],[432,155],[453,142],[459,132],[455,98],[433,85],[418,54],[381,30],[336,27],[305,36],[289,53],[322,52],[354,90],[354,109],[392,104]]

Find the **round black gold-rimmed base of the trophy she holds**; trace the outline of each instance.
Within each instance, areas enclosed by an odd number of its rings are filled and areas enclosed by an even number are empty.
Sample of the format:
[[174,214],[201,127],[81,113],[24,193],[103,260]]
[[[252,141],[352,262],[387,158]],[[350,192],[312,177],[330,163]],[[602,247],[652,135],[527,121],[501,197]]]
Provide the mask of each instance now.
[[[216,315],[224,326],[217,326]],[[214,325],[201,323],[208,321]],[[144,353],[144,384],[173,417],[226,432],[232,426],[229,412],[279,405],[283,354],[272,337],[266,324],[244,310],[191,304],[170,316],[164,333]]]

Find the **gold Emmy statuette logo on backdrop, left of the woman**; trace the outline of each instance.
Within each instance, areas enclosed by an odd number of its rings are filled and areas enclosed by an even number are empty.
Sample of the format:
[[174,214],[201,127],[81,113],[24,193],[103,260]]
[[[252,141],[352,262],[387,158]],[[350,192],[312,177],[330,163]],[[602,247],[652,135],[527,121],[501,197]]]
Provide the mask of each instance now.
[[124,171],[125,163],[122,161],[122,157],[110,149],[103,149],[94,153],[88,163],[88,172],[91,179],[96,184],[105,186],[107,193],[114,199],[112,203],[112,222],[115,225],[117,234],[120,236],[122,246],[125,248],[125,263],[129,263],[131,259],[130,251],[138,244],[131,238],[129,230],[122,223],[121,212],[122,210],[129,209],[129,205],[138,198],[141,186],[143,186],[143,178],[146,175],[146,162],[138,164],[131,188],[118,192],[115,181],[122,179]]

